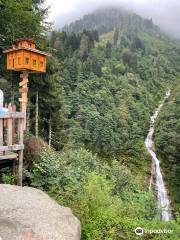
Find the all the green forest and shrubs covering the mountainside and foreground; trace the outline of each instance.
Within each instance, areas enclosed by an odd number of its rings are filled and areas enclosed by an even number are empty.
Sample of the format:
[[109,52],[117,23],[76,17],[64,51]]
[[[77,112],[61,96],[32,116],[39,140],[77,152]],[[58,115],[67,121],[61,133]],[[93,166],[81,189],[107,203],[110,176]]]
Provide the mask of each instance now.
[[[0,0],[0,8],[0,88],[6,101],[18,104],[19,75],[6,71],[3,49],[30,37],[51,54],[47,73],[30,77],[24,184],[71,207],[81,220],[82,240],[138,239],[137,226],[173,230],[143,239],[180,239],[175,87],[180,43],[151,19],[122,9],[97,11],[60,32],[46,22],[43,1]],[[151,158],[144,140],[150,115],[169,88],[156,146],[176,217],[160,222],[154,192],[148,190]],[[1,174],[6,183],[14,179]]]

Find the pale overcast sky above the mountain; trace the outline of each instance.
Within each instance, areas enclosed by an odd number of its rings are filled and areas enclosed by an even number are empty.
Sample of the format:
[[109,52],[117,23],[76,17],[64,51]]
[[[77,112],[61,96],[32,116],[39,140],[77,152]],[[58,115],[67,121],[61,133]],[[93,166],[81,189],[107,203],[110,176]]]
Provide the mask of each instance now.
[[56,28],[100,7],[125,6],[180,36],[180,0],[47,0],[47,4],[51,6],[49,19]]

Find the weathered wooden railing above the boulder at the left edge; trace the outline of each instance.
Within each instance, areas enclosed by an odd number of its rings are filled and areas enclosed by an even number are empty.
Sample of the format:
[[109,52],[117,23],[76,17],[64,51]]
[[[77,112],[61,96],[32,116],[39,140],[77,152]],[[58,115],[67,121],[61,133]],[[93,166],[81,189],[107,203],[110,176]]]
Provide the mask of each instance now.
[[15,105],[5,110],[0,112],[0,160],[18,160],[16,175],[22,185],[25,113],[16,112]]

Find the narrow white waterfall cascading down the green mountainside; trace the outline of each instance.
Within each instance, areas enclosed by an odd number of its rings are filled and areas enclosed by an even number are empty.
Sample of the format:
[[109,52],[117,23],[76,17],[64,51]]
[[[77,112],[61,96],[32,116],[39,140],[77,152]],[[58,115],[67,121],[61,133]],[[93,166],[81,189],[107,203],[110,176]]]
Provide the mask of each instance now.
[[[166,191],[166,187],[165,187],[163,176],[160,169],[160,162],[154,151],[153,134],[154,134],[155,120],[158,117],[158,114],[162,106],[164,105],[165,99],[167,99],[169,96],[170,96],[170,90],[166,92],[164,101],[159,105],[154,115],[151,116],[151,125],[149,129],[149,133],[145,140],[146,148],[150,153],[150,155],[152,156],[152,175],[155,177],[155,187],[157,192],[158,207],[160,209],[162,221],[169,221],[172,218],[172,213],[171,213],[170,201],[168,199],[168,194]],[[151,176],[151,181],[153,176]],[[150,183],[150,186],[151,186],[151,183]]]

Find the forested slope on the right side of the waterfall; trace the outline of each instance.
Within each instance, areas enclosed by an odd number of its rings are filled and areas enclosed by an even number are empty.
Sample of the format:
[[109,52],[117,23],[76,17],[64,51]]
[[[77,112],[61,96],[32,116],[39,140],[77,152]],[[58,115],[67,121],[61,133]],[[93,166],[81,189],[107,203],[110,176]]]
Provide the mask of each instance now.
[[164,167],[164,177],[169,185],[172,200],[180,209],[180,85],[174,86],[174,91],[163,108],[156,125],[156,148],[161,156]]

